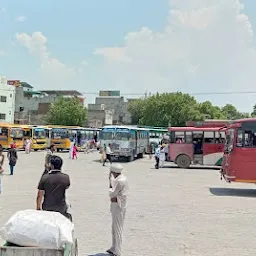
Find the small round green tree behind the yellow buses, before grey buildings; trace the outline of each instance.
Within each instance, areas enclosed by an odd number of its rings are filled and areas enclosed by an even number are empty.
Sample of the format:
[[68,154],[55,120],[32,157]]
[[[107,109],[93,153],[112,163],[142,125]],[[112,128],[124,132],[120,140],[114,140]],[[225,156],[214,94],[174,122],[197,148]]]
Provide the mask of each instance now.
[[47,122],[53,125],[83,126],[87,118],[87,109],[78,98],[59,98],[47,114]]

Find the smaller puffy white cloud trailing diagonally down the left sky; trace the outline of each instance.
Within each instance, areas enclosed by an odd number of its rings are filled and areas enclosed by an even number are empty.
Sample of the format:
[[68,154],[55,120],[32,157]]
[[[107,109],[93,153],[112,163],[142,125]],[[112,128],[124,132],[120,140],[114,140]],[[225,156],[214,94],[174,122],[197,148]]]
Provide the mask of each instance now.
[[59,84],[65,79],[71,79],[76,71],[67,67],[63,62],[54,58],[47,48],[47,38],[42,32],[34,32],[32,35],[26,33],[16,34],[17,41],[28,49],[28,52],[40,60],[41,72],[49,82],[51,79]]

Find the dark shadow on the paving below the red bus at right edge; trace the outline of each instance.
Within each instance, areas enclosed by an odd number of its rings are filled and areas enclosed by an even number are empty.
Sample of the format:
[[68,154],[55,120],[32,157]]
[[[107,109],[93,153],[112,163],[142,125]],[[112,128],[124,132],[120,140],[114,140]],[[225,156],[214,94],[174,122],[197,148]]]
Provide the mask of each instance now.
[[256,189],[242,188],[209,188],[214,196],[234,196],[256,198]]

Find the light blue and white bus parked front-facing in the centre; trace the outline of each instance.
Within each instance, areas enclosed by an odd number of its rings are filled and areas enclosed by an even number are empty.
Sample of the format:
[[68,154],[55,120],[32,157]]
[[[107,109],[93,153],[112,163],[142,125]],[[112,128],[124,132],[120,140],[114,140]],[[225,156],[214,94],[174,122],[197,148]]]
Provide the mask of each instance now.
[[100,132],[100,145],[111,144],[115,157],[133,161],[143,158],[149,146],[149,130],[129,126],[104,126]]

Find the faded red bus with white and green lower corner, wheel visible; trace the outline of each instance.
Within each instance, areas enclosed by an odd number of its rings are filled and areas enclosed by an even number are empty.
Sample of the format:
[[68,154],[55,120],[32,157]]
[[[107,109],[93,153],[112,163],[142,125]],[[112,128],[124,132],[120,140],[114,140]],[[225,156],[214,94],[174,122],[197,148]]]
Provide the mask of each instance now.
[[170,161],[181,168],[191,164],[221,166],[225,131],[220,127],[169,127]]

